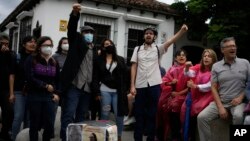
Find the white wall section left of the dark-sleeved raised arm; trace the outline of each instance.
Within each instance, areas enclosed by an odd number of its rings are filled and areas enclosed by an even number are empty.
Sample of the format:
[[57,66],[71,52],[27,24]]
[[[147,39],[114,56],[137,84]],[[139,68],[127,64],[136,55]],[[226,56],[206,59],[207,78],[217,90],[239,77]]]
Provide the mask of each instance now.
[[73,3],[69,0],[45,0],[34,9],[32,29],[39,21],[39,24],[42,25],[42,36],[50,36],[53,40],[54,52],[61,37],[67,37],[67,32],[59,31],[59,23],[60,20],[68,21]]

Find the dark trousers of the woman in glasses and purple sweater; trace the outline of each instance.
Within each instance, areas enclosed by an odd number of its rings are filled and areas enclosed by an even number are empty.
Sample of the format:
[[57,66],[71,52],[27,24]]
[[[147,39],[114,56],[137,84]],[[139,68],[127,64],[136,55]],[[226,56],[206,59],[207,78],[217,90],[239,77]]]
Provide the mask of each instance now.
[[30,141],[38,141],[38,131],[43,128],[43,141],[50,141],[54,132],[55,103],[28,100],[30,110]]

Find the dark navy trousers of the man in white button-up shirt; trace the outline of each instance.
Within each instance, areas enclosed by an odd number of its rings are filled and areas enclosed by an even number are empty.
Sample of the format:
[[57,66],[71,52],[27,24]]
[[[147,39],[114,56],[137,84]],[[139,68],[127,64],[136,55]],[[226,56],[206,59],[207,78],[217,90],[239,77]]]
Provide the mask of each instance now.
[[[136,89],[134,103],[135,141],[142,141],[142,135],[147,129],[147,141],[154,141],[156,135],[156,112],[160,97],[160,85]],[[147,125],[146,127],[144,125]]]

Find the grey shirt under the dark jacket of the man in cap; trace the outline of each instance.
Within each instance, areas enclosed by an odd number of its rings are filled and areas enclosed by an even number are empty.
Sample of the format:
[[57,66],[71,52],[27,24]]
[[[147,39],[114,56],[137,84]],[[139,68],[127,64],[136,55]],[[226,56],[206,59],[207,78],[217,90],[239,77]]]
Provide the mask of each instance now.
[[92,81],[92,72],[93,72],[93,49],[89,48],[72,84],[75,85],[78,89],[83,89],[85,92],[90,93],[91,92],[90,83]]

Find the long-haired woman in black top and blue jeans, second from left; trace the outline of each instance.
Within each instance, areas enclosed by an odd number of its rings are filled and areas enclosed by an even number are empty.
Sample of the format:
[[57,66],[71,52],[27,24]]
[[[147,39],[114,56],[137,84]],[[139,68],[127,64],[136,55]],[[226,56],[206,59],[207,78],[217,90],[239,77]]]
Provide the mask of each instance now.
[[36,50],[36,39],[32,36],[26,36],[22,40],[22,48],[17,55],[15,65],[15,99],[14,99],[14,119],[12,123],[12,140],[16,140],[16,136],[20,131],[22,122],[23,128],[29,127],[29,112],[27,108],[27,85],[24,76],[24,62]]

